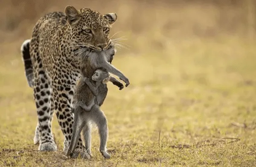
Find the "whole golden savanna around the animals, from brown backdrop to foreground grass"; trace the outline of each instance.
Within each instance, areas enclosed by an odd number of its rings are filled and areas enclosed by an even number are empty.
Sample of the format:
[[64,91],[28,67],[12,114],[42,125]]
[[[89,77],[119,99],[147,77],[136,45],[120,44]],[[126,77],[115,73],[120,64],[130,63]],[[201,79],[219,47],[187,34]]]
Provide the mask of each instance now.
[[[5,1],[5,2],[4,2]],[[4,0],[0,15],[0,167],[255,167],[256,10],[254,1]],[[36,21],[65,6],[118,15],[122,38],[112,64],[130,85],[108,84],[102,110],[108,150],[93,158],[64,156],[33,144],[37,113],[20,46]],[[253,7],[254,6],[254,7]]]

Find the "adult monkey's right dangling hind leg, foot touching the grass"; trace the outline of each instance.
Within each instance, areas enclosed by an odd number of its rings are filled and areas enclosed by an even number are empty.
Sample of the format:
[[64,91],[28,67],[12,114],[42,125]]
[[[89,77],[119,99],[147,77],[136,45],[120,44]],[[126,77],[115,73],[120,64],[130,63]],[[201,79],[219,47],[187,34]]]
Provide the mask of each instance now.
[[99,129],[100,146],[99,151],[106,159],[110,159],[110,154],[107,152],[107,140],[108,140],[108,121],[105,114],[99,109],[98,105],[94,105],[91,110],[91,116],[93,122],[96,123]]

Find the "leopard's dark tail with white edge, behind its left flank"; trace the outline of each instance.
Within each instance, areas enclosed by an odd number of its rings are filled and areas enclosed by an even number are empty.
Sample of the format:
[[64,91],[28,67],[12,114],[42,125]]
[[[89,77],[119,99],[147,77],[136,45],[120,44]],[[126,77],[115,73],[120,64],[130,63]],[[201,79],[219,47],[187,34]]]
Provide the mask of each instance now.
[[33,74],[33,64],[31,60],[31,56],[29,53],[29,45],[30,45],[30,40],[25,40],[23,44],[21,45],[21,53],[22,53],[22,59],[24,62],[25,66],[25,74],[26,74],[26,79],[29,83],[29,87],[33,87],[34,85],[34,74]]

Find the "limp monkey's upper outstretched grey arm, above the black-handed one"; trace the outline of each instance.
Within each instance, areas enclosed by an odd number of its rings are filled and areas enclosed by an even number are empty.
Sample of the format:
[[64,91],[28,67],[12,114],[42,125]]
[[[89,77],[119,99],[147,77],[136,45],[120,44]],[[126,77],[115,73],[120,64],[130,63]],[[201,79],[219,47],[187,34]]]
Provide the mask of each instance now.
[[129,79],[126,78],[126,76],[124,76],[124,74],[122,74],[121,71],[117,70],[113,65],[111,65],[109,62],[106,62],[106,61],[102,61],[100,64],[99,64],[99,67],[100,68],[105,68],[108,72],[110,72],[111,74],[114,74],[116,76],[118,76],[122,81],[125,82],[125,86],[127,87],[130,82],[129,82]]

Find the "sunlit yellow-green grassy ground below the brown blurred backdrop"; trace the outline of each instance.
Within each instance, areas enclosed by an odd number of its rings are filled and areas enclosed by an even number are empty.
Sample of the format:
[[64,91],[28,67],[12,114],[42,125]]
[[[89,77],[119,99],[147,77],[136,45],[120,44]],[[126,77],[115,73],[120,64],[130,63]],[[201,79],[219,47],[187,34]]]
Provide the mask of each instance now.
[[256,166],[256,45],[237,38],[166,44],[114,58],[131,85],[119,91],[110,84],[102,106],[109,160],[98,151],[97,130],[93,159],[66,158],[56,116],[58,152],[38,152],[35,105],[21,57],[1,57],[0,166]]

